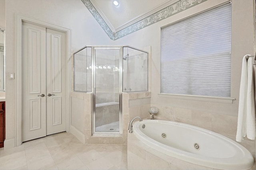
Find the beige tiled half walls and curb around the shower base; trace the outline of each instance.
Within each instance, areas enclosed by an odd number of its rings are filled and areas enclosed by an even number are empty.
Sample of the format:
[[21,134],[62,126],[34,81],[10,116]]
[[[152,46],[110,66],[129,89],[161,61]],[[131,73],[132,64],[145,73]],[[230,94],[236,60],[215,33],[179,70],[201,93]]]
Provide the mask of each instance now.
[[71,92],[70,131],[85,144],[127,145],[129,122],[136,116],[142,119],[150,116],[150,98],[150,92],[122,93],[122,137],[95,137],[92,136],[92,93]]

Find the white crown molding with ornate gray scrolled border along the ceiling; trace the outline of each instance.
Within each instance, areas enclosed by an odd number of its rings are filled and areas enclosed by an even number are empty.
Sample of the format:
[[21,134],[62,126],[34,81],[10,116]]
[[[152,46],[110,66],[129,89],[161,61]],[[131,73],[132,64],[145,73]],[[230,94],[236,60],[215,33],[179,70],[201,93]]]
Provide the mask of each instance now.
[[[84,3],[86,8],[90,11],[90,13],[95,18],[95,20],[100,24],[102,29],[107,33],[110,39],[116,40],[130,33],[138,31],[144,27],[147,27],[151,24],[154,24],[158,21],[164,20],[165,18],[175,15],[179,12],[187,10],[188,8],[201,4],[202,2],[205,2],[207,0],[186,0],[186,1],[168,0],[166,1],[166,3],[163,3],[157,6],[156,8],[150,10],[149,12],[141,14],[140,16],[124,23],[124,25],[121,25],[117,29],[113,27],[110,21],[107,20],[106,16],[104,16],[102,11],[99,9],[98,5],[94,3],[100,12],[96,10],[96,8],[91,2],[91,1],[95,2],[95,0],[81,0],[81,1]],[[102,17],[104,17],[104,19]]]

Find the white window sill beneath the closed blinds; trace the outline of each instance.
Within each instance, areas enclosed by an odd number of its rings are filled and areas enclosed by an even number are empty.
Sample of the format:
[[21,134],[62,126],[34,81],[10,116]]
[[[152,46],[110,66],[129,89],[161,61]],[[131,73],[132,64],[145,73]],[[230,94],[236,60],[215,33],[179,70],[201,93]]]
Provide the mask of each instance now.
[[236,100],[235,98],[183,95],[183,94],[166,94],[166,93],[158,93],[158,96],[160,96],[161,98],[175,98],[175,99],[197,100],[197,101],[205,101],[205,102],[228,103],[228,104],[232,104],[233,100]]

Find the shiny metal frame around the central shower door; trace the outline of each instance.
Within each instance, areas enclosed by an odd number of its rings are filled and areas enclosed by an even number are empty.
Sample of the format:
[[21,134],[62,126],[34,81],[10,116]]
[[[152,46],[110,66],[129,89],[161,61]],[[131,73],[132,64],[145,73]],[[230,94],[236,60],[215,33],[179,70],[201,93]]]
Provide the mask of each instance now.
[[[122,136],[123,135],[123,126],[122,126],[122,87],[123,87],[123,46],[120,45],[103,45],[103,46],[86,46],[92,47],[92,136]],[[96,132],[96,50],[104,50],[104,49],[118,49],[119,50],[119,131],[118,132]]]

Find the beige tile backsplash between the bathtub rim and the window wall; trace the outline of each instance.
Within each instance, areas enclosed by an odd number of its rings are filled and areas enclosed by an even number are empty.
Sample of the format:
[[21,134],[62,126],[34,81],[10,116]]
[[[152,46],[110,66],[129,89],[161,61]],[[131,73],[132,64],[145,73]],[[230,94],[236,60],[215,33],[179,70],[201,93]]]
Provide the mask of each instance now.
[[[237,116],[221,115],[218,113],[184,109],[179,107],[161,106],[156,104],[152,106],[156,106],[159,110],[155,116],[155,119],[176,121],[202,127],[236,141]],[[248,139],[239,143],[248,149],[255,159],[254,141]]]

